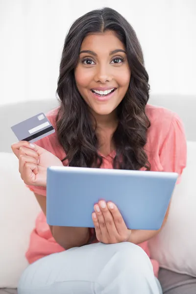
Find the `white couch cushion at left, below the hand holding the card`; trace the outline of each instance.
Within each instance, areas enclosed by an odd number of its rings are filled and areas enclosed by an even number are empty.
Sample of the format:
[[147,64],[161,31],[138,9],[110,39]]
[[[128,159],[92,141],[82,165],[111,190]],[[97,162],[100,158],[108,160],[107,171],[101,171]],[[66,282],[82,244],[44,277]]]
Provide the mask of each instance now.
[[28,265],[25,251],[39,211],[20,177],[17,157],[0,152],[0,288],[17,287]]

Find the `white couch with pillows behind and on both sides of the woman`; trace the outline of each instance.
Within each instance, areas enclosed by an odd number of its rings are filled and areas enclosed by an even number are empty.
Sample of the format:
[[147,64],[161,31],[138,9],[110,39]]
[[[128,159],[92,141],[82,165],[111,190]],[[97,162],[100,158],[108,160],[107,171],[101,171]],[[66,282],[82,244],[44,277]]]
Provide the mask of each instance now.
[[[192,286],[186,288],[186,294],[196,294],[196,288],[193,290],[196,279],[188,277],[196,277],[196,97],[152,96],[149,103],[178,113],[185,124],[188,146],[188,165],[181,184],[174,191],[168,222],[161,233],[150,240],[150,252],[163,269],[182,274],[176,276],[178,291],[184,285],[183,281],[186,285],[191,281]],[[56,105],[54,98],[0,107],[0,288],[17,287],[20,274],[27,266],[25,250],[29,235],[40,211],[33,193],[20,178],[18,160],[10,147],[17,139],[10,126],[39,112],[46,113]],[[178,294],[173,286],[175,274],[163,269],[160,280],[165,293]],[[3,293],[17,292],[1,289],[0,294]]]

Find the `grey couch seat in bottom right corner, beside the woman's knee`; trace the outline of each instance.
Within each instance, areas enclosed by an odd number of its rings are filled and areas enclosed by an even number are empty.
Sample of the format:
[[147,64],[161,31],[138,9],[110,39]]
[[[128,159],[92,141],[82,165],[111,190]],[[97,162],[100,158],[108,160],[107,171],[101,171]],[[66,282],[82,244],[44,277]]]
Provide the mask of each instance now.
[[196,278],[171,270],[160,269],[163,294],[196,294]]

